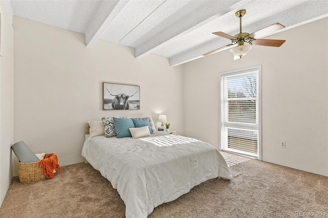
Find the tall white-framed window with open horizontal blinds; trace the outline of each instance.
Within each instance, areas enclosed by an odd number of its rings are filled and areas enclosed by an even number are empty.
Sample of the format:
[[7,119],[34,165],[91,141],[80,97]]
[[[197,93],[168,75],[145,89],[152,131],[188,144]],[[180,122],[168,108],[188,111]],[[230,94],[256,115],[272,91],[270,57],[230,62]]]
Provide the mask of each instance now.
[[220,149],[261,160],[261,66],[221,73]]

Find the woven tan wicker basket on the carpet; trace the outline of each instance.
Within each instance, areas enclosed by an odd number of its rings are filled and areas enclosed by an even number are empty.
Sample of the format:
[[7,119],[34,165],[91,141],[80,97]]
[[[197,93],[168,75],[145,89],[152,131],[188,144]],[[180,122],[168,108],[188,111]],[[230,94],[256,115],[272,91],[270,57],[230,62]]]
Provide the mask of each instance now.
[[18,178],[20,183],[33,183],[46,179],[42,168],[38,162],[33,163],[20,163],[18,165]]

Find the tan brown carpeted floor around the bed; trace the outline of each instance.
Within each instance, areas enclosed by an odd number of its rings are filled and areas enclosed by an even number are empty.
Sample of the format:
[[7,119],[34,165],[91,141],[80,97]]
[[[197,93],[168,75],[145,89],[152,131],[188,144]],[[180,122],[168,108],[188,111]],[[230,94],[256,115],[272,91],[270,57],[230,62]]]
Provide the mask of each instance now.
[[[233,180],[213,179],[149,217],[328,217],[328,177],[244,160],[230,167]],[[55,179],[21,184],[15,177],[0,217],[125,217],[125,204],[111,183],[90,164],[61,167]]]

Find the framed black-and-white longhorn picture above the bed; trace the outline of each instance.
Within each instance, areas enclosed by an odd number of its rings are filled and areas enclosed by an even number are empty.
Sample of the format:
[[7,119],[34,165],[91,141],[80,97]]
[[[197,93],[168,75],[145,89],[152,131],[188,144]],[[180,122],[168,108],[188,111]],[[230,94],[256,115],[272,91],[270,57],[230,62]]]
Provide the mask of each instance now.
[[103,82],[103,110],[140,110],[140,86]]

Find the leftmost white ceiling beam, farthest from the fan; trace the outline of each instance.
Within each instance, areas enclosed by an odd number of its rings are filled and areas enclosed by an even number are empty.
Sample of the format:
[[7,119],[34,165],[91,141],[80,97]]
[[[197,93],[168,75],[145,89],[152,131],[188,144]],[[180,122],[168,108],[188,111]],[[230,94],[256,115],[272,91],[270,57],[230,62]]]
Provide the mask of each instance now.
[[88,48],[97,42],[128,2],[128,0],[113,0],[101,3],[85,33]]

